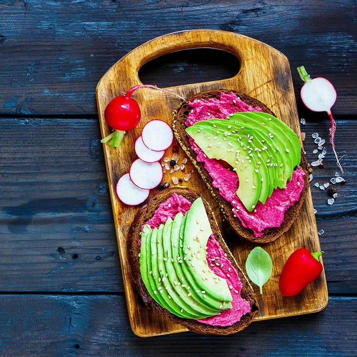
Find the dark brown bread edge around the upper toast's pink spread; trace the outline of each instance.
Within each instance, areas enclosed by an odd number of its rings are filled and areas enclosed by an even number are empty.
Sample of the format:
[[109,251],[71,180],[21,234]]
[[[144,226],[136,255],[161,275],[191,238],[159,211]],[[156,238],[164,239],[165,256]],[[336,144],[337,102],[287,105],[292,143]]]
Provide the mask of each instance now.
[[261,101],[250,97],[247,94],[239,93],[237,91],[233,90],[224,90],[224,89],[216,89],[216,90],[208,90],[204,92],[197,93],[193,95],[192,97],[186,99],[183,101],[174,111],[174,123],[173,123],[173,128],[174,128],[174,133],[177,141],[180,143],[182,149],[186,152],[187,156],[191,159],[193,162],[193,165],[196,166],[198,172],[200,173],[203,181],[206,183],[207,187],[210,189],[213,197],[216,199],[218,205],[221,208],[221,211],[223,215],[225,216],[226,220],[230,223],[232,229],[237,233],[238,236],[241,236],[242,238],[254,242],[254,243],[268,243],[275,241],[277,238],[282,236],[286,231],[289,230],[291,227],[292,223],[296,220],[298,217],[301,206],[303,202],[305,201],[305,197],[308,191],[308,188],[310,186],[309,182],[309,173],[308,173],[308,164],[306,160],[306,156],[303,153],[303,150],[301,150],[301,162],[299,168],[303,169],[305,171],[305,176],[304,176],[304,181],[305,185],[304,188],[301,192],[300,198],[298,201],[295,202],[294,205],[289,207],[286,212],[285,212],[285,218],[283,223],[281,224],[280,227],[272,227],[272,228],[266,228],[263,231],[263,235],[261,237],[255,237],[253,231],[250,228],[246,228],[242,225],[241,221],[239,220],[238,217],[236,217],[233,212],[232,212],[232,206],[229,202],[227,202],[219,193],[218,188],[215,188],[212,186],[212,177],[208,174],[207,170],[204,167],[203,162],[196,161],[197,154],[195,151],[192,150],[190,141],[188,140],[188,136],[186,134],[186,119],[188,116],[188,113],[192,109],[192,107],[188,104],[189,102],[195,100],[195,99],[209,99],[209,98],[220,98],[221,92],[225,93],[230,93],[233,92],[235,93],[240,99],[247,104],[256,107],[259,106],[263,110],[263,112],[266,112],[268,114],[274,115],[275,114]]

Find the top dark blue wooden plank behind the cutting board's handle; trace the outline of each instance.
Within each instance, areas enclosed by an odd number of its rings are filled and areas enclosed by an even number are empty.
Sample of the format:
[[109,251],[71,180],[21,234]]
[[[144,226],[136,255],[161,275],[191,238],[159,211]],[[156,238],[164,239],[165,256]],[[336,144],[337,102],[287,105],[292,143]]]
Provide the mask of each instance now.
[[[282,51],[290,60],[296,93],[302,84],[298,65],[313,76],[326,76],[337,88],[335,112],[354,114],[355,13],[353,0],[1,0],[0,112],[94,114],[96,84],[123,55],[168,32],[210,27],[239,32]],[[211,80],[220,61],[206,66],[209,61],[193,54],[190,62],[171,58],[162,69],[159,61],[142,78],[162,86],[181,84],[184,77],[185,82]]]

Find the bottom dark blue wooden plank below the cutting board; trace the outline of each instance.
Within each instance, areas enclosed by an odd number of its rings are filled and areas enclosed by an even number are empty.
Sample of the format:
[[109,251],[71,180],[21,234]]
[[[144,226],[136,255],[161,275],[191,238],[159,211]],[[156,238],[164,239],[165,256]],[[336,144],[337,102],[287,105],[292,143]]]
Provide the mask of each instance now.
[[[357,298],[231,336],[135,336],[123,295],[0,295],[2,356],[355,356]],[[293,327],[292,327],[293,326]],[[26,331],[26,332],[25,332]]]

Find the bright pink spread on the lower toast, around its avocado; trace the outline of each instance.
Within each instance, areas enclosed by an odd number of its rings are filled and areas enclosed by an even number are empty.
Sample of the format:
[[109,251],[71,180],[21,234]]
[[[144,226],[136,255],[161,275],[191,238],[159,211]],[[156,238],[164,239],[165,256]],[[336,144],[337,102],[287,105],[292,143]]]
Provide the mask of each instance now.
[[[185,214],[191,207],[191,202],[185,197],[173,193],[165,202],[161,203],[154,213],[154,216],[146,222],[154,229],[161,223],[165,223],[168,217],[175,218],[178,212]],[[232,294],[232,308],[223,310],[220,315],[200,319],[202,323],[214,326],[231,326],[240,321],[241,317],[251,311],[250,302],[241,297],[242,282],[231,261],[225,257],[225,252],[212,234],[207,241],[206,257],[208,264],[212,262],[211,270],[227,281]],[[218,257],[218,259],[216,259]],[[218,265],[216,265],[218,263]]]

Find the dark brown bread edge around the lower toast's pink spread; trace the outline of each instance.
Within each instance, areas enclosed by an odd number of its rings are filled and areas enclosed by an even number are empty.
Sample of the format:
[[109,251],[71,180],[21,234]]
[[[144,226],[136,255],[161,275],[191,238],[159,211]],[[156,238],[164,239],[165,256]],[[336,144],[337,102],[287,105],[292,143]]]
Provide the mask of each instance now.
[[167,188],[166,190],[161,191],[160,193],[155,195],[147,205],[142,207],[141,210],[137,212],[134,221],[132,222],[130,227],[130,231],[129,231],[130,265],[132,267],[136,288],[139,291],[142,300],[145,302],[145,305],[148,308],[155,307],[161,313],[167,315],[171,321],[178,323],[179,325],[183,325],[187,327],[188,330],[191,330],[193,332],[198,332],[208,335],[230,335],[231,333],[235,333],[243,330],[243,328],[246,328],[252,322],[253,317],[259,311],[258,301],[255,296],[255,293],[253,292],[252,287],[250,286],[250,283],[248,282],[243,271],[238,266],[235,258],[233,257],[225,241],[223,240],[221,236],[221,232],[217,226],[216,218],[214,217],[213,212],[210,206],[208,205],[208,202],[205,200],[203,200],[203,203],[206,208],[208,219],[211,223],[213,234],[215,235],[215,238],[220,244],[220,246],[227,254],[227,258],[231,261],[232,265],[237,269],[238,275],[243,285],[241,296],[250,302],[251,312],[246,315],[243,315],[240,321],[234,323],[231,326],[222,327],[222,326],[206,325],[196,320],[181,318],[172,314],[167,309],[161,307],[158,303],[156,303],[156,301],[150,296],[149,292],[147,291],[146,286],[142,281],[141,274],[140,274],[140,262],[139,262],[140,247],[138,241],[140,240],[141,237],[140,235],[141,227],[142,225],[144,225],[145,222],[147,222],[154,215],[160,203],[165,202],[169,197],[172,196],[173,193],[177,193],[177,195],[181,195],[187,198],[187,200],[189,200],[190,202],[193,202],[198,197],[200,197],[200,195],[198,195],[196,191],[193,191],[190,188],[186,188],[186,187]]

